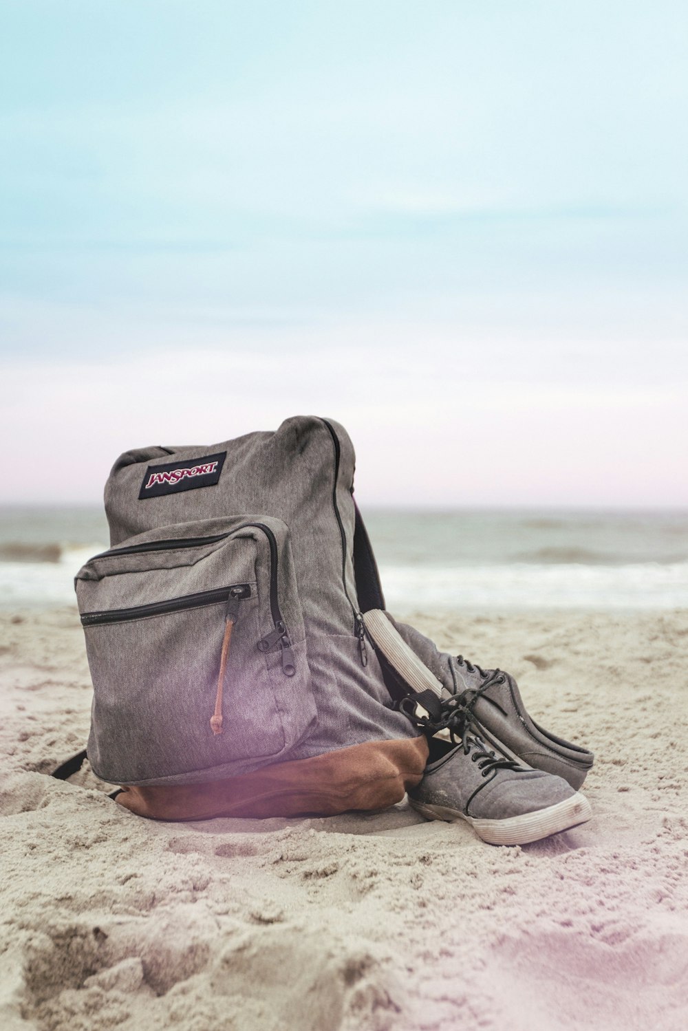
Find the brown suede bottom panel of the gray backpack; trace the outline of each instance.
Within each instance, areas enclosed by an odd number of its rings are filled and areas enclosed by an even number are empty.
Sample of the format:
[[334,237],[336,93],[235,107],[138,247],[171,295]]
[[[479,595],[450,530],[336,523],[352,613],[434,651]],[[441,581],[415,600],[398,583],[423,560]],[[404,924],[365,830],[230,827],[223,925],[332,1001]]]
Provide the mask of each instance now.
[[123,788],[117,796],[139,817],[333,817],[348,809],[384,809],[400,802],[423,776],[425,737],[366,741],[312,759],[265,766],[209,784]]

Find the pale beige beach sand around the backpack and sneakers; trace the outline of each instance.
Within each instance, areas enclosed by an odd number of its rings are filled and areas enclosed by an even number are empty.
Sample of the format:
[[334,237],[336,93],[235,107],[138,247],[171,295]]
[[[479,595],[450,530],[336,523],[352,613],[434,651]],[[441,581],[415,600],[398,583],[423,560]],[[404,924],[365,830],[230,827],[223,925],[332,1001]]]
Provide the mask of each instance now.
[[45,775],[88,731],[75,612],[2,617],[1,1027],[685,1031],[688,611],[406,618],[593,749],[591,823],[143,821]]

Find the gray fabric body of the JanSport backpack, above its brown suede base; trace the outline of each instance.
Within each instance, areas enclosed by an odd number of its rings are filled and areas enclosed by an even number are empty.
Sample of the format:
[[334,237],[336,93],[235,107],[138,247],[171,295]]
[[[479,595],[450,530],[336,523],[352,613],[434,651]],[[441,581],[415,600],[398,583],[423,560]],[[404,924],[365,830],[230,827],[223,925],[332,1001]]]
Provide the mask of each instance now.
[[385,605],[354,463],[315,417],[118,459],[110,548],[75,578],[99,777],[197,784],[418,735],[366,645]]

